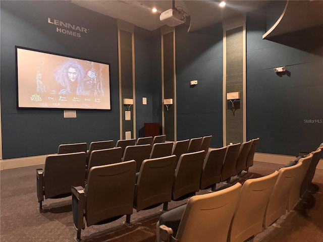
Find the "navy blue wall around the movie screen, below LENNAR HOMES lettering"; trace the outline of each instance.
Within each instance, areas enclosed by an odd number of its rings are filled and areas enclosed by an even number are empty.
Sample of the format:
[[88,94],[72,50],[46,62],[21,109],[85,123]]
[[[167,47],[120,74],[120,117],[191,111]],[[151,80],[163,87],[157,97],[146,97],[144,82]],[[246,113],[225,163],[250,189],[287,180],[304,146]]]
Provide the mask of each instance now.
[[[81,33],[81,37],[58,33],[57,26],[49,24],[47,18],[86,27],[88,33]],[[115,19],[82,9],[68,1],[1,1],[4,159],[55,153],[58,145],[63,143],[89,144],[106,139],[116,142],[120,138],[117,33]],[[15,45],[110,63],[111,111],[77,110],[77,118],[64,118],[63,110],[17,109]],[[151,53],[153,48],[149,47],[147,53]],[[142,47],[139,47],[138,55],[145,55],[141,50]],[[148,68],[147,62],[144,61],[145,68]],[[137,90],[144,90],[148,79],[140,71],[138,75],[143,82],[138,81]],[[151,73],[147,76],[153,77]],[[150,91],[145,90],[142,96],[147,93]],[[137,96],[140,97],[141,93]],[[151,105],[150,102],[150,110],[140,115],[143,120],[149,119],[150,122],[153,119]]]

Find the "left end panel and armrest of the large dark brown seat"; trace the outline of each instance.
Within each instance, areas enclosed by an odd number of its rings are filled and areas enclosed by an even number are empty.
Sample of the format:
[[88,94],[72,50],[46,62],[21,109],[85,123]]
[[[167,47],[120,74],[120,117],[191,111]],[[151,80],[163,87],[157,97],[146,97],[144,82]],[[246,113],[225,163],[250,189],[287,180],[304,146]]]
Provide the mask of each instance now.
[[78,231],[77,238],[81,239],[81,229],[84,229],[84,189],[83,187],[72,187],[72,212],[73,223],[75,229]]

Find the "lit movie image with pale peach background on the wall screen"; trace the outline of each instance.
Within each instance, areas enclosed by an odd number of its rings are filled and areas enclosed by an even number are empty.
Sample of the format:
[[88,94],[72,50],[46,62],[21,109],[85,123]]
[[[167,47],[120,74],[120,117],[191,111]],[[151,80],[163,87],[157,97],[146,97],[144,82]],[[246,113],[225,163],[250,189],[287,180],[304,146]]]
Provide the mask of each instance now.
[[16,51],[19,107],[111,109],[109,64]]

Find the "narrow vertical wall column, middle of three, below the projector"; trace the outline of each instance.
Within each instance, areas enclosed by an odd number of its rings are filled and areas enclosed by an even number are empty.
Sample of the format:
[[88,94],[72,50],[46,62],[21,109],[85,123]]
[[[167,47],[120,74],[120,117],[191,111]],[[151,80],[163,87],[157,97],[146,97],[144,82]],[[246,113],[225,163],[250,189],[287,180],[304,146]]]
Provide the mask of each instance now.
[[[163,134],[168,141],[176,141],[176,58],[175,28],[161,28],[161,98],[163,107]],[[165,99],[169,100],[167,104]]]

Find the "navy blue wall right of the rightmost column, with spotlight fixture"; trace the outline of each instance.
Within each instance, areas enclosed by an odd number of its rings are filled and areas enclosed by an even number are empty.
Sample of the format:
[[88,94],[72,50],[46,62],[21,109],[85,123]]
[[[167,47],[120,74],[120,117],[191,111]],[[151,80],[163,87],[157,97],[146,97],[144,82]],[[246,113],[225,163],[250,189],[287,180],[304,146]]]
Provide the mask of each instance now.
[[[258,152],[312,151],[323,139],[322,42],[308,52],[310,36],[298,48],[288,45],[293,38],[285,45],[263,40],[264,16],[247,15],[247,139],[260,137]],[[284,75],[273,71],[283,66]]]

